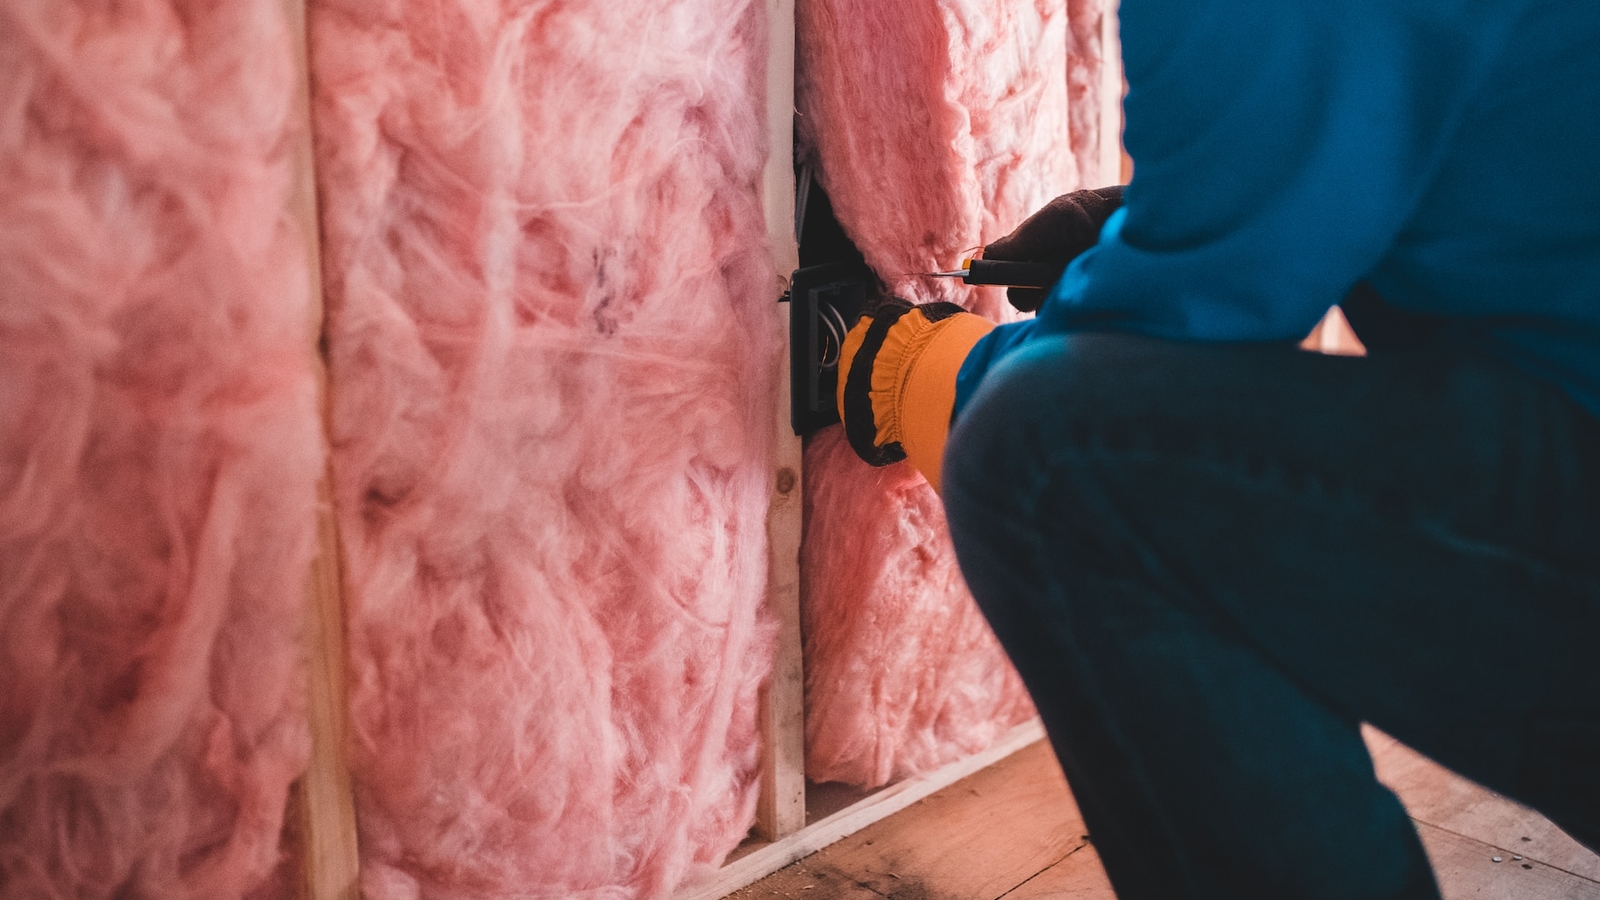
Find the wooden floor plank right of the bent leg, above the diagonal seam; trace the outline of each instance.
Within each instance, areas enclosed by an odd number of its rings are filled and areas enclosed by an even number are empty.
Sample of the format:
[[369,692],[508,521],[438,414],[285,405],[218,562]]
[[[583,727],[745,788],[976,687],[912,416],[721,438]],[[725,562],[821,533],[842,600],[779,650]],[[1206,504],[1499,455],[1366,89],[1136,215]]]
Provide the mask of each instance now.
[[1378,778],[1400,798],[1411,818],[1600,882],[1600,857],[1538,812],[1456,775],[1382,732],[1368,729],[1366,738]]

